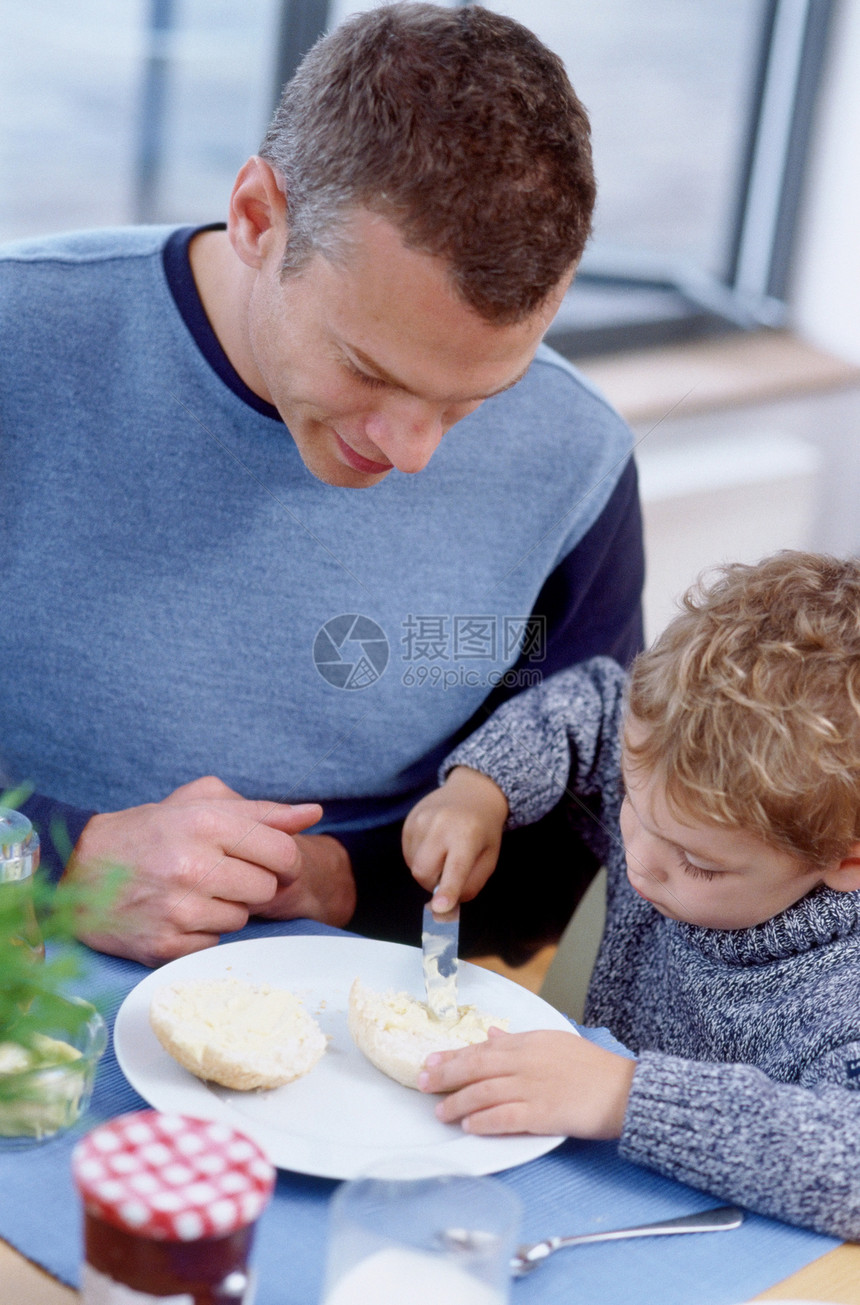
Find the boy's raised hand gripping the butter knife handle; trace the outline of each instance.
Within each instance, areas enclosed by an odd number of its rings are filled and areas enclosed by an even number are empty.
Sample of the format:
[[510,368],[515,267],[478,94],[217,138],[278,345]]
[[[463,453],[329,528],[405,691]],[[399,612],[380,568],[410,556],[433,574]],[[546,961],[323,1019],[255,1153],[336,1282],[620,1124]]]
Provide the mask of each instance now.
[[470,902],[496,869],[508,799],[478,770],[455,766],[441,788],[412,806],[403,823],[403,856],[442,915]]

